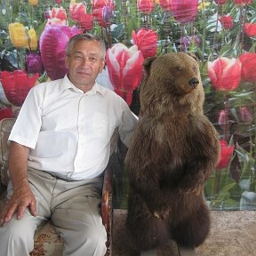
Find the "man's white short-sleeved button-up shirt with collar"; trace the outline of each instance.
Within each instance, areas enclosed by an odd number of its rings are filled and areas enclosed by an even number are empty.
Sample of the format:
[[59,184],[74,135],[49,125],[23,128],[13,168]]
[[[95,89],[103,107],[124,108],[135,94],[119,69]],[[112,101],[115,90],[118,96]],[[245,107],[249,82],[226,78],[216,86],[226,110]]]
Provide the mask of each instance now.
[[128,146],[136,124],[136,116],[115,92],[96,83],[84,93],[65,76],[28,92],[9,140],[30,148],[28,166],[74,180],[91,179],[108,164],[116,127]]

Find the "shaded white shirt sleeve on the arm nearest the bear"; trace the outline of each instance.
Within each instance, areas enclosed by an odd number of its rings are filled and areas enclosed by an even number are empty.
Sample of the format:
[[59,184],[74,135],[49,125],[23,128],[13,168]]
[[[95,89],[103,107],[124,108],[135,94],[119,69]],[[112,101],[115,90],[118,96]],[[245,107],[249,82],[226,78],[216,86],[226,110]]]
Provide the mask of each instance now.
[[132,132],[138,124],[139,118],[132,113],[131,109],[122,98],[120,98],[120,105],[120,109],[122,109],[122,117],[118,127],[118,132],[120,134],[120,139],[124,142],[124,145],[129,148]]

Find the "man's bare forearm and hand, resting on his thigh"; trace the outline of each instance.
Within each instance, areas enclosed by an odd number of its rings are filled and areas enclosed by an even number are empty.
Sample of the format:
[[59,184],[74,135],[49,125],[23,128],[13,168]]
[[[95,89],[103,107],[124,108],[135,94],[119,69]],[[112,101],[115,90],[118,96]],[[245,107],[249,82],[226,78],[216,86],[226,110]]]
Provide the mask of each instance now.
[[13,194],[4,207],[0,225],[10,221],[14,212],[17,212],[17,219],[20,220],[27,207],[31,214],[36,216],[36,198],[28,185],[28,153],[28,147],[11,142],[9,172],[13,185]]

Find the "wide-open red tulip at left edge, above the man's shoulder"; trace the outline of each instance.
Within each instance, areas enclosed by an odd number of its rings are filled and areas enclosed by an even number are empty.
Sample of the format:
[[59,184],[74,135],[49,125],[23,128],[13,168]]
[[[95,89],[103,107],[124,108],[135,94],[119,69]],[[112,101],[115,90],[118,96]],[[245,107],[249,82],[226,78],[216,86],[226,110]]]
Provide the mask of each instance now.
[[29,90],[36,84],[39,74],[28,76],[26,71],[2,71],[0,74],[4,93],[12,105],[20,107],[28,95]]

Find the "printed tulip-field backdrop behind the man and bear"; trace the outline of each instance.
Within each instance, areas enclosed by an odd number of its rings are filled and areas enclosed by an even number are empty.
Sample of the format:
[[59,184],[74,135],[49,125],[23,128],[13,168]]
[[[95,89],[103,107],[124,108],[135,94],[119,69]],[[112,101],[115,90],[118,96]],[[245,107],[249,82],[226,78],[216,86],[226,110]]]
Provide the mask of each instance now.
[[194,52],[204,113],[220,136],[221,156],[205,185],[212,209],[256,209],[255,0],[1,0],[0,119],[35,84],[67,72],[65,45],[89,32],[107,45],[99,83],[139,114],[142,62]]

